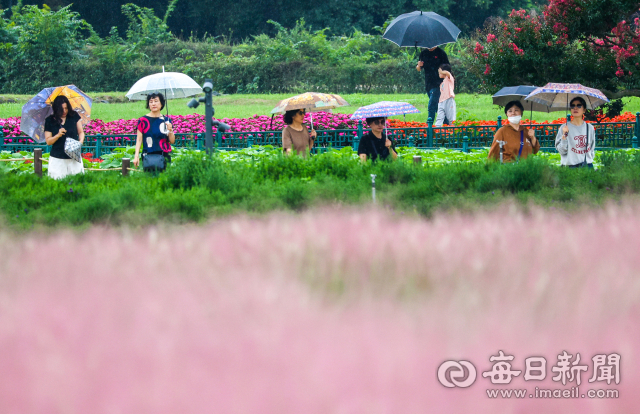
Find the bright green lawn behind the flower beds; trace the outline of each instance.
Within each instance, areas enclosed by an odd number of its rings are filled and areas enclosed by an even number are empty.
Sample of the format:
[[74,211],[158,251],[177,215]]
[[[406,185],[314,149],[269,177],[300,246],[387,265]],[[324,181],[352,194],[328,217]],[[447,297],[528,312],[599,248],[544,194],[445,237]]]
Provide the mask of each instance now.
[[[122,100],[123,92],[105,92],[105,93],[89,93],[94,98],[111,96]],[[255,114],[269,115],[271,109],[276,106],[278,101],[288,98],[291,94],[280,95],[227,95],[214,97],[213,103],[216,110],[217,118],[247,118]],[[351,94],[342,95],[351,106],[340,108],[335,112],[353,113],[360,106],[369,105],[379,101],[404,101],[416,106],[422,113],[415,115],[407,115],[407,121],[425,122],[427,118],[428,100],[424,94]],[[10,116],[20,116],[22,105],[30,97],[26,95],[2,95],[4,98],[14,98],[19,103],[0,104],[0,118]],[[201,105],[197,109],[187,107],[189,99],[177,99],[169,101],[169,112],[175,115],[187,115],[191,113],[204,114],[204,106]],[[625,111],[640,111],[640,98],[625,98]],[[474,94],[458,94],[456,95],[456,103],[458,109],[458,120],[476,120],[485,119],[493,120],[498,115],[504,115],[502,108],[491,103],[489,95]],[[126,102],[126,103],[96,103],[93,106],[92,118],[102,119],[104,121],[113,121],[116,119],[133,119],[147,113],[144,108],[144,102]],[[534,112],[533,119],[537,121],[554,120],[560,118],[563,112],[540,113]],[[529,115],[526,114],[525,118]],[[397,117],[402,118],[402,117]]]

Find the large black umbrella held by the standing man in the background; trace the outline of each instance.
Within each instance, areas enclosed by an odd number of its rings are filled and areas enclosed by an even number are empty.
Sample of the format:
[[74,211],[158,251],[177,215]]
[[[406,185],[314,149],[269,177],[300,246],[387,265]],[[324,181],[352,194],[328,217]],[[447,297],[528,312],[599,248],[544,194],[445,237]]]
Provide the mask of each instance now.
[[454,43],[460,29],[446,17],[434,12],[414,11],[393,19],[382,37],[398,46],[432,48]]

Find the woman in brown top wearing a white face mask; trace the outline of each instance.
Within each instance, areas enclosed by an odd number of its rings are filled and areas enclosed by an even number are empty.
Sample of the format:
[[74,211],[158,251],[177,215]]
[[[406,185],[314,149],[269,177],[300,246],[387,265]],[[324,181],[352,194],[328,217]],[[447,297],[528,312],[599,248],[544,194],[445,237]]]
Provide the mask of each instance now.
[[519,101],[511,101],[504,107],[504,113],[509,119],[509,124],[503,126],[493,137],[489,159],[500,159],[500,142],[503,144],[503,161],[513,162],[536,154],[540,149],[540,142],[535,137],[532,129],[520,125],[524,107]]

